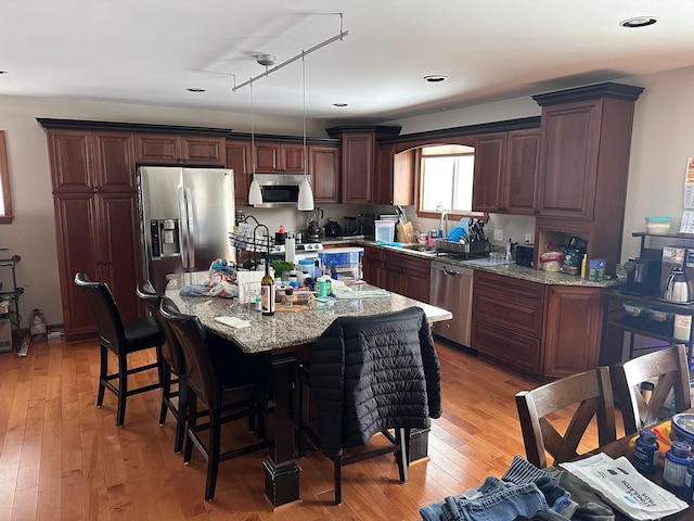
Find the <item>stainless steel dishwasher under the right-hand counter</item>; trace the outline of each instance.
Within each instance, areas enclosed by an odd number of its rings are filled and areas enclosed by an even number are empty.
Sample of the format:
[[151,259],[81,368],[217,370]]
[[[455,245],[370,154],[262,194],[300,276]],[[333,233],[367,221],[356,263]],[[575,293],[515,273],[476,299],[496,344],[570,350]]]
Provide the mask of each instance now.
[[465,347],[470,347],[472,331],[473,272],[452,263],[432,262],[429,303],[453,314],[451,320],[435,322],[432,331]]

